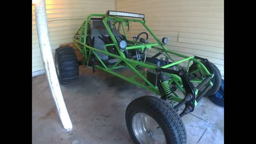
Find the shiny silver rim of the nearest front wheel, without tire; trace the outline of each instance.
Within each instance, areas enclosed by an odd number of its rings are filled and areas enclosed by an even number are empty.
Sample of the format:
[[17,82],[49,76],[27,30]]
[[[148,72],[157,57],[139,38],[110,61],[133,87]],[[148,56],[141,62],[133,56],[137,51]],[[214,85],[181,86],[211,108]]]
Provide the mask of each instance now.
[[132,117],[132,129],[141,144],[166,144],[163,130],[151,116],[136,113]]

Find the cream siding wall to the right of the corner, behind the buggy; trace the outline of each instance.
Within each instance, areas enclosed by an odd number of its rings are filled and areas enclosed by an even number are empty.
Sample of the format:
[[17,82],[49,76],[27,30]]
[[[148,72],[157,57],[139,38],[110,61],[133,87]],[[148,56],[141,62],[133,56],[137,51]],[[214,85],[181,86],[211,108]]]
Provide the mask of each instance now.
[[[223,0],[116,0],[116,10],[145,14],[147,26],[161,40],[168,38],[167,49],[188,56],[209,59],[224,74]],[[132,25],[129,38],[147,31]],[[150,42],[154,42],[149,37]],[[149,55],[156,54],[150,50]],[[173,56],[174,60],[180,60]],[[187,63],[183,63],[185,66]]]

